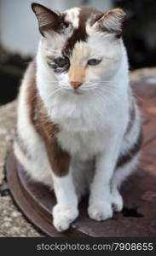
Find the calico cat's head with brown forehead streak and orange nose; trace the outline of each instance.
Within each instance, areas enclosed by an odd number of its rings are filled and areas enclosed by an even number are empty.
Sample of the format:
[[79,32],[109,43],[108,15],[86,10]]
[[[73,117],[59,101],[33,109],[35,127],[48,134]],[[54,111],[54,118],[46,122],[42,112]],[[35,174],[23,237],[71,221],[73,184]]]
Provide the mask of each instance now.
[[122,9],[101,13],[73,8],[60,13],[38,3],[32,3],[32,9],[42,35],[43,64],[61,90],[83,94],[117,73],[123,49]]

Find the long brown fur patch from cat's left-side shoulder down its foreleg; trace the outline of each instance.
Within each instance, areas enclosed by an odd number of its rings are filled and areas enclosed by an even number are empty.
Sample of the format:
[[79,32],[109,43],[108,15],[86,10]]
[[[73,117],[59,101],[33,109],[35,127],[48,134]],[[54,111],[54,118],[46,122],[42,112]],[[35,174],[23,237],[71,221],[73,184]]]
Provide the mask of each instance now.
[[61,149],[57,142],[56,133],[59,131],[59,127],[52,123],[47,116],[42,99],[38,94],[35,69],[35,62],[32,62],[29,67],[29,89],[27,99],[30,118],[32,120],[32,125],[43,138],[52,171],[59,177],[65,176],[69,171],[70,156]]

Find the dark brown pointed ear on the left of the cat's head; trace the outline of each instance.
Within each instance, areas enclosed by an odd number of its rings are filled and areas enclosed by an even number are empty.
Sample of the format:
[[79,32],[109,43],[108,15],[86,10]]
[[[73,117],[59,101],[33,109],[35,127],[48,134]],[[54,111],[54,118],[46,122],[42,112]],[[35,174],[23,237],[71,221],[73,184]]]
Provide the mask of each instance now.
[[61,14],[41,4],[32,3],[32,10],[37,16],[39,31],[43,36],[46,32],[60,32],[63,27]]

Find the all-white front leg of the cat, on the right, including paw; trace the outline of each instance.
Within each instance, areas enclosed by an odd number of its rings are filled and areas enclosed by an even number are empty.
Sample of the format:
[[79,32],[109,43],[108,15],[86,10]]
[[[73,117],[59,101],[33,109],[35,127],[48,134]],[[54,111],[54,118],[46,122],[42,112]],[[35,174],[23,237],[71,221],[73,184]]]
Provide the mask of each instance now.
[[95,159],[95,177],[90,185],[88,213],[90,218],[102,221],[113,217],[110,183],[118,157],[118,140],[111,138],[107,148]]

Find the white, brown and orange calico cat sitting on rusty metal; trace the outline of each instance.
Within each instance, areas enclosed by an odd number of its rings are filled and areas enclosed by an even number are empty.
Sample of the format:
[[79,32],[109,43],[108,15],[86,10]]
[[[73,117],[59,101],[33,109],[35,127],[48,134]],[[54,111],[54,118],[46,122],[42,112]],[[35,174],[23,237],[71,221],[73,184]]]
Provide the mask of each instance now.
[[141,116],[122,39],[124,10],[65,12],[32,3],[41,40],[18,101],[14,154],[54,189],[53,224],[67,230],[90,194],[97,221],[123,208],[119,188],[139,160]]

